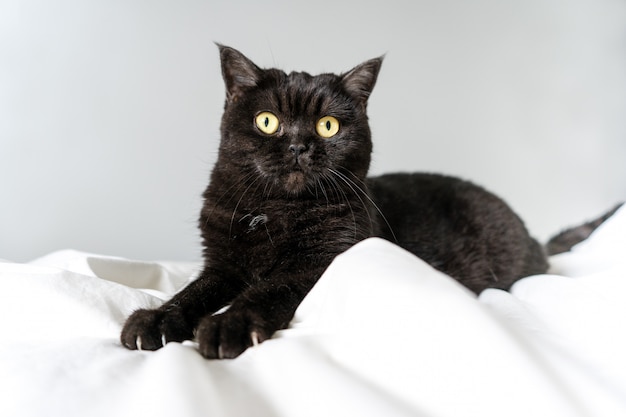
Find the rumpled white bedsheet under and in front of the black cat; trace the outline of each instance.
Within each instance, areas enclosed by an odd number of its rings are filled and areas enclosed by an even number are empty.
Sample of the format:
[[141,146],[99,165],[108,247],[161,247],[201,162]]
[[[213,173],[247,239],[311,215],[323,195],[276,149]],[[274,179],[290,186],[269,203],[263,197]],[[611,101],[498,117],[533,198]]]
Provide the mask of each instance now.
[[0,415],[626,416],[626,210],[552,265],[476,298],[369,239],[289,329],[207,361],[192,342],[118,341],[131,311],[196,265],[75,251],[0,262]]

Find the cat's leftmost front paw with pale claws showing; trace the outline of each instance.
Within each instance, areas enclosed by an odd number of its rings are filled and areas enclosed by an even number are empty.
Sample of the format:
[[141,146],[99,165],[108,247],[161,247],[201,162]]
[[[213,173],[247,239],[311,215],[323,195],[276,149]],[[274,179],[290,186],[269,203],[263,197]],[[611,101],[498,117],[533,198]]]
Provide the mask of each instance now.
[[167,342],[193,338],[193,330],[178,310],[137,310],[128,317],[120,340],[131,350],[157,350]]

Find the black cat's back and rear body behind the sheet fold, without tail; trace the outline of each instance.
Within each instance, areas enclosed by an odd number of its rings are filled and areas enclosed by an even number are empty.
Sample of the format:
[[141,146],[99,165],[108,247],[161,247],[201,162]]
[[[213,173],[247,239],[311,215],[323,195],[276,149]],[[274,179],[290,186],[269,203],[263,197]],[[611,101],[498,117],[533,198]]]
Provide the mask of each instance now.
[[385,218],[379,236],[475,292],[508,288],[547,268],[543,249],[520,218],[500,198],[469,181],[397,173],[368,178],[368,188]]

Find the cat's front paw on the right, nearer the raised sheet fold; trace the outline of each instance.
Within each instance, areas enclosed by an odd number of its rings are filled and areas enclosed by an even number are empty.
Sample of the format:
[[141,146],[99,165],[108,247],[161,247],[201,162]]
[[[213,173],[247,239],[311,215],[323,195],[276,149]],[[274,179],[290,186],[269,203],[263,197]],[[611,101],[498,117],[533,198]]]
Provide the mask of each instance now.
[[196,331],[198,350],[207,359],[233,359],[250,346],[268,339],[274,330],[245,310],[228,310],[205,317]]

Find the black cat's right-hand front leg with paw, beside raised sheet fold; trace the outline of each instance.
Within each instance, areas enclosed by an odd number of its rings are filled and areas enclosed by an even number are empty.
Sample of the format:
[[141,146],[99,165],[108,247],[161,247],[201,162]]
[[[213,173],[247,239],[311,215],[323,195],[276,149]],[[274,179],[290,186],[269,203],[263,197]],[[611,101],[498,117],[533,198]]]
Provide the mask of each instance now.
[[232,359],[287,327],[322,272],[272,277],[240,294],[226,312],[205,316],[196,331],[200,354],[207,359]]

